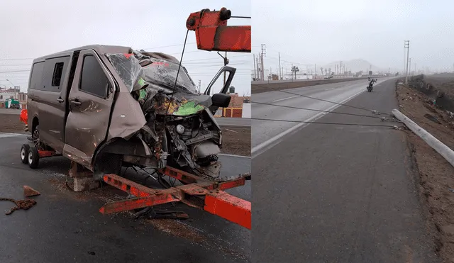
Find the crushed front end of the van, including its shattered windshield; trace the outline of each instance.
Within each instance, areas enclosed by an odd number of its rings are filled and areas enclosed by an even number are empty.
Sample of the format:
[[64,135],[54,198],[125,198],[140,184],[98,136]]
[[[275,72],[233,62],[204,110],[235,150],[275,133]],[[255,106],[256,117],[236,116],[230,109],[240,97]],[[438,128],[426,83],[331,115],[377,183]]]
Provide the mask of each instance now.
[[[222,147],[221,127],[214,115],[228,107],[226,94],[236,69],[224,66],[200,94],[187,69],[170,55],[134,51],[107,55],[131,95],[140,104],[147,123],[136,134],[150,149],[146,166],[162,169],[167,165],[209,179],[226,181],[220,175],[218,153]],[[221,91],[210,96],[216,80],[228,73]]]

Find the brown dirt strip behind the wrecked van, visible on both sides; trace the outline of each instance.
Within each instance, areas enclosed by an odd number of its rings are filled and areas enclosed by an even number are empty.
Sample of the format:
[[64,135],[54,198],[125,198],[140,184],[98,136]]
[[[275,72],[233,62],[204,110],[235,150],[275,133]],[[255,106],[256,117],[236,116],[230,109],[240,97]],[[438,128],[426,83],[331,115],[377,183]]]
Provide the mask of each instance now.
[[[25,133],[18,114],[0,113],[0,133]],[[250,156],[250,128],[225,127],[221,152],[228,155]]]

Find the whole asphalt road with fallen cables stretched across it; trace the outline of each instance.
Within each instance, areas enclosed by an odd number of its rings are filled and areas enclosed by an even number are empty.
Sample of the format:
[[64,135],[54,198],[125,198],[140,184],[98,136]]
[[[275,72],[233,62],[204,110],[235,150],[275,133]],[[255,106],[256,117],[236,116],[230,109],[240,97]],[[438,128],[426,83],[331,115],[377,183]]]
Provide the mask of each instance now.
[[[343,101],[365,83],[316,86],[299,93]],[[347,105],[390,113],[394,80],[377,84]],[[329,108],[289,94],[258,94],[253,101]],[[371,115],[341,106],[338,112]],[[313,112],[253,104],[254,118],[306,120]],[[419,203],[406,136],[376,118],[328,113],[282,137],[253,157],[253,262],[437,262]],[[256,123],[253,143],[294,123]]]

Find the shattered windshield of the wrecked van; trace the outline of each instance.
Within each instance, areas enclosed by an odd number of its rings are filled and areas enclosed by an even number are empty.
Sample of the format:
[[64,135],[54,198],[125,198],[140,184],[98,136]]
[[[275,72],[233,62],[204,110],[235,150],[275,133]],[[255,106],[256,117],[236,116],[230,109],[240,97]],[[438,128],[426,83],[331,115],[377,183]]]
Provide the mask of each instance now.
[[[128,86],[129,91],[142,89],[148,83],[165,86],[172,91],[199,94],[196,84],[189,77],[186,69],[181,66],[178,72],[179,64],[175,62],[145,56],[140,52],[135,54],[106,54],[106,57],[114,66],[124,84]],[[174,90],[177,72],[178,81]]]

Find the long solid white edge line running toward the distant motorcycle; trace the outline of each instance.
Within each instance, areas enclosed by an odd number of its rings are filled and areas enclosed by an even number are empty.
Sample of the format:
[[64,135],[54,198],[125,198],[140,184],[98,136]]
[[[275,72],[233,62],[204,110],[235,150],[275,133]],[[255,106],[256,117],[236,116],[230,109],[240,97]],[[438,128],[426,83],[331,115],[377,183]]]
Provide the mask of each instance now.
[[[358,96],[359,94],[361,94],[362,92],[364,92],[365,90],[361,90],[359,91],[358,93],[356,94],[353,94],[352,96],[348,97],[347,99],[344,99],[343,101],[339,102],[341,104],[343,103],[346,103],[347,101],[350,101],[350,99],[353,99],[355,98],[355,96]],[[335,104],[334,106],[328,108],[326,111],[333,111],[335,110],[336,108],[338,108],[339,104]],[[317,119],[325,116],[327,113],[325,112],[321,112],[321,113],[318,113],[316,114],[315,116],[312,116],[311,118],[308,118],[307,120],[305,120],[305,122],[309,122],[309,121],[316,121]],[[250,150],[250,154],[253,155],[253,158],[254,157],[257,157],[258,155],[260,155],[262,152],[265,152],[266,150],[270,149],[272,146],[276,145],[278,140],[283,138],[285,135],[289,134],[289,133],[296,133],[297,132],[297,129],[299,128],[302,128],[306,125],[309,125],[310,123],[299,123],[297,125],[294,125],[292,128],[289,128],[288,130],[282,132],[282,133],[279,133],[278,135],[275,135],[275,137],[273,138],[270,138],[268,140],[265,140],[265,142],[262,142],[260,143],[259,145],[253,147],[251,150]]]

